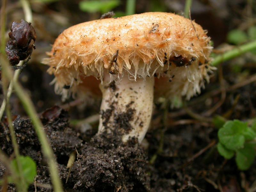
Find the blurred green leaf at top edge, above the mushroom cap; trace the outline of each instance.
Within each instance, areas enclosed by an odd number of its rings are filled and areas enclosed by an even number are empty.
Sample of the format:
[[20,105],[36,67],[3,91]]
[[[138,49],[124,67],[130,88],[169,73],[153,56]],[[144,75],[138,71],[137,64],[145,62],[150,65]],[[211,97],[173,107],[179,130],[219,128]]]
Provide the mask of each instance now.
[[120,4],[119,0],[91,0],[91,1],[80,1],[79,8],[84,12],[94,13],[101,12],[107,13],[112,11],[115,7]]

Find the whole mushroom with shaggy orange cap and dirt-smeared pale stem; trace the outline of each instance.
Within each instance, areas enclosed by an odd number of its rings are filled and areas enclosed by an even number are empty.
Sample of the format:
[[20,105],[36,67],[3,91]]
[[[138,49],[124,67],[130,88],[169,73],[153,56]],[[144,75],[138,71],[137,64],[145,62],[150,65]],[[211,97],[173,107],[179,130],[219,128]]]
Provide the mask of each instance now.
[[[153,98],[190,99],[200,93],[212,47],[194,21],[147,12],[84,22],[63,31],[43,60],[63,99],[93,97],[100,90],[98,134],[118,130],[123,142],[141,142]],[[155,85],[155,86],[154,86]]]

